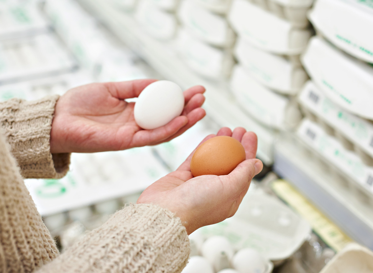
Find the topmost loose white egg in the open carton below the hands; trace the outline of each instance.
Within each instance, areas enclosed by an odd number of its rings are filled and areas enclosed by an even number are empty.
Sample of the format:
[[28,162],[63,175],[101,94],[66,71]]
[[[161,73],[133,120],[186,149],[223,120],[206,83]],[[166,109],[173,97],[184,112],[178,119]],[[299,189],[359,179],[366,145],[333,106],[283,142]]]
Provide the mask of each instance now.
[[229,267],[233,257],[233,247],[223,236],[211,236],[201,247],[201,253],[214,267],[215,271]]

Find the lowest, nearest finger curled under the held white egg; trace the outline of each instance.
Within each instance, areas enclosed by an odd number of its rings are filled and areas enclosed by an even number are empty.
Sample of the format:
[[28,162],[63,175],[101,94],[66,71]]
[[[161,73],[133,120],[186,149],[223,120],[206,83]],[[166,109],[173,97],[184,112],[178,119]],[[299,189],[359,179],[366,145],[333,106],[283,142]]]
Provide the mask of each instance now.
[[164,139],[175,135],[182,127],[188,123],[186,116],[178,116],[164,126],[153,130],[140,130],[135,133],[132,143],[136,143],[136,147],[152,145],[153,143],[162,142]]

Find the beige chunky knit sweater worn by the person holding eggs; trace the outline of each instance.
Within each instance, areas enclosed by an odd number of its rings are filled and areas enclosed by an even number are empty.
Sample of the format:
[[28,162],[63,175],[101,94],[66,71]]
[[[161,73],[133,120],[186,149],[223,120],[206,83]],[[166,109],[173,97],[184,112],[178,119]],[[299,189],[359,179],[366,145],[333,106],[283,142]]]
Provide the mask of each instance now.
[[129,205],[59,254],[23,183],[60,178],[69,154],[50,154],[58,96],[0,102],[0,272],[181,272],[189,240],[181,220],[156,205]]

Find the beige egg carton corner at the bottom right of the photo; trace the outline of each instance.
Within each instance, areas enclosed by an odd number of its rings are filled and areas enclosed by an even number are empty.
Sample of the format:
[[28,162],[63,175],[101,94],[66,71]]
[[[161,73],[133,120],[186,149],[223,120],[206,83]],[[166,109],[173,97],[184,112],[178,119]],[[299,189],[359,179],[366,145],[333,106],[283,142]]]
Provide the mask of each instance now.
[[372,273],[373,252],[358,244],[350,244],[338,252],[320,273]]

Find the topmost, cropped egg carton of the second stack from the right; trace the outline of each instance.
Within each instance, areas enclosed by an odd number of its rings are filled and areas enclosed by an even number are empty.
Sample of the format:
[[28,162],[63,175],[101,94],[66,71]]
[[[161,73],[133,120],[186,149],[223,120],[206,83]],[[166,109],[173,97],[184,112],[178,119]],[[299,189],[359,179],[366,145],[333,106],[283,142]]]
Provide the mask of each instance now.
[[250,2],[289,21],[296,28],[307,28],[310,25],[307,12],[313,1],[250,0]]

